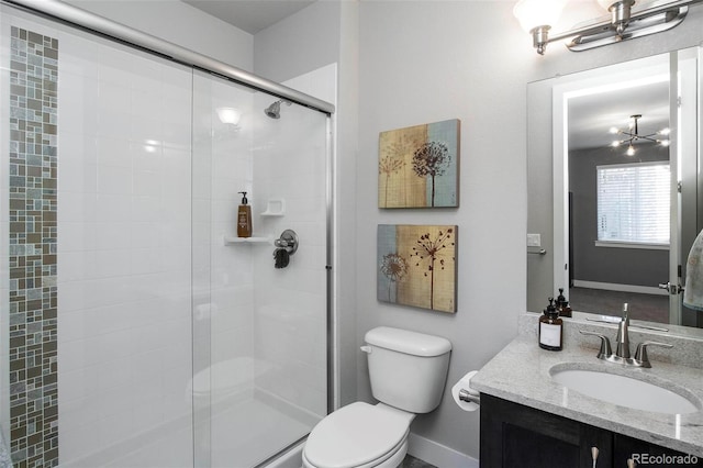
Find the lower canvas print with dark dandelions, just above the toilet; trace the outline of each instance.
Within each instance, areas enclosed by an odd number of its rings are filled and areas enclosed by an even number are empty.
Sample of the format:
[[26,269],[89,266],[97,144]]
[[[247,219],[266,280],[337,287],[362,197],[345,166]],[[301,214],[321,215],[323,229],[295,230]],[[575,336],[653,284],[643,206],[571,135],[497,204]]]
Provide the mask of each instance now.
[[457,226],[378,226],[377,298],[440,312],[457,311]]

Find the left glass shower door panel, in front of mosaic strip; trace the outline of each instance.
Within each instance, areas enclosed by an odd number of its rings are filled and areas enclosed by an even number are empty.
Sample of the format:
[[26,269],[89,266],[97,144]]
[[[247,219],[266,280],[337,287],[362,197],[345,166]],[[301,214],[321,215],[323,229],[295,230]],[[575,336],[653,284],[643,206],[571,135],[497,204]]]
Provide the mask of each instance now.
[[0,8],[12,458],[190,467],[192,73]]

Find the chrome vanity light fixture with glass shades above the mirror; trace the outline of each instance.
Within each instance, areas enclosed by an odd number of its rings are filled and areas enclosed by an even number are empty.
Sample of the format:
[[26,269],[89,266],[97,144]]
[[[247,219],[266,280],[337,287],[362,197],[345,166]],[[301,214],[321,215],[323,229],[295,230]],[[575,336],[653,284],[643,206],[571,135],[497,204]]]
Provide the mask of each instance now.
[[[635,37],[659,33],[679,25],[689,5],[703,0],[674,0],[668,3],[633,11],[635,0],[596,0],[611,14],[610,21],[601,21],[582,27],[549,35],[568,0],[520,0],[513,9],[523,29],[532,34],[537,54],[544,55],[547,44],[570,40],[569,51],[580,52]],[[650,2],[654,4],[652,2]],[[578,3],[573,7],[578,8]]]

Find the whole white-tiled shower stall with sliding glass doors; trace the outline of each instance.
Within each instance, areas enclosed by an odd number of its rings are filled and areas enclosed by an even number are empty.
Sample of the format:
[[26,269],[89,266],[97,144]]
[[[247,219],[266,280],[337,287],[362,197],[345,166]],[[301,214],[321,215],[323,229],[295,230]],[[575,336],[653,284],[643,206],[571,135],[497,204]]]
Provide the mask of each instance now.
[[0,9],[0,445],[15,467],[277,459],[331,410],[335,67],[272,83]]

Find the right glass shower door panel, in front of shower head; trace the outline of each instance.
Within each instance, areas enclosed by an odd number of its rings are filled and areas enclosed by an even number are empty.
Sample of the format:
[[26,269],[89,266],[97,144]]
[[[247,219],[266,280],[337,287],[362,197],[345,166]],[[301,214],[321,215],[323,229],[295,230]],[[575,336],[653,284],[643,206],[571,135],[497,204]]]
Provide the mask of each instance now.
[[[327,413],[327,115],[270,118],[278,98],[200,73],[193,89],[196,465],[257,466]],[[286,230],[299,246],[276,268]]]

